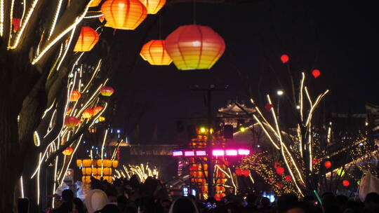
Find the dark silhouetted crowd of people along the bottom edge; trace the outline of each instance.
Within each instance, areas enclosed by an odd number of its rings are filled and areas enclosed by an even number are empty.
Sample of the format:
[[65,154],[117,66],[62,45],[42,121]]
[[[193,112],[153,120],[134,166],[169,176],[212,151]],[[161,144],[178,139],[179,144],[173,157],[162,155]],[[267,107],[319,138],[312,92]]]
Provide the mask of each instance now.
[[84,202],[69,189],[62,191],[62,202],[50,213],[374,213],[379,212],[378,193],[368,193],[364,202],[344,195],[324,193],[319,200],[307,195],[301,200],[293,194],[270,202],[255,194],[227,195],[222,200],[198,200],[192,195],[171,200],[161,181],[137,177],[107,181],[91,180]]

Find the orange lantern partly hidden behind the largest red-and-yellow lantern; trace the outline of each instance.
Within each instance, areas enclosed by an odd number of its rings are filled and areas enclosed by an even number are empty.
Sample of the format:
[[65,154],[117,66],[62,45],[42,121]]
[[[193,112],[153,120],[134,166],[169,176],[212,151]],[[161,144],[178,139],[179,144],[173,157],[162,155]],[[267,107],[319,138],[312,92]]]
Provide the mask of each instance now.
[[173,62],[164,48],[164,40],[152,40],[145,43],[140,56],[152,65],[168,65]]

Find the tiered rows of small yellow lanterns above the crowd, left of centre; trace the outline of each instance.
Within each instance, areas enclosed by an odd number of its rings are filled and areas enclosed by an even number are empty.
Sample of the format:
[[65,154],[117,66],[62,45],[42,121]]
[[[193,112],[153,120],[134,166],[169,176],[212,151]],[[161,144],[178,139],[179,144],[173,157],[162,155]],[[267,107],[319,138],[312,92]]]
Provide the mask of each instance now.
[[112,182],[112,167],[116,168],[119,166],[118,160],[109,160],[109,159],[78,159],[77,166],[81,167],[81,172],[83,177],[81,177],[84,183],[90,183],[91,177],[95,179],[104,179],[109,183]]

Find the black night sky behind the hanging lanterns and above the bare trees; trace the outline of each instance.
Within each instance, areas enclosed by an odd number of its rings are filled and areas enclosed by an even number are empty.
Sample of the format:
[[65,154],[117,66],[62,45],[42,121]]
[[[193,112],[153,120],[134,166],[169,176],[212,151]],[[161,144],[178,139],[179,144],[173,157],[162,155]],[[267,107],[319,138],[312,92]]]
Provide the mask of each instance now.
[[[180,25],[193,23],[192,4],[165,6],[161,27],[157,17],[149,15],[135,32],[117,31],[114,35],[114,50],[120,52],[111,78],[117,91],[113,97],[117,103],[114,125],[122,128],[130,120],[125,121],[126,111],[137,114],[141,107],[135,104],[145,105],[140,139],[132,142],[173,143],[178,118],[204,116],[206,112],[204,95],[189,89],[196,84],[230,85],[228,90],[215,92],[214,109],[224,107],[228,100],[246,100],[246,82],[253,97],[264,105],[262,96],[281,88],[279,81],[285,90],[288,86],[288,73],[279,59],[283,53],[290,55],[296,84],[300,71],[305,71],[313,95],[331,90],[326,99],[329,111],[364,113],[366,102],[379,104],[374,8],[348,1],[198,3],[197,24],[212,27],[226,43],[224,55],[211,70],[178,71],[174,64],[151,66],[139,56],[134,64],[128,59],[139,51],[140,41],[159,39],[159,28],[164,39]],[[147,36],[141,36],[146,29]],[[314,79],[312,69],[319,69],[321,76]],[[157,141],[152,139],[156,126]]]

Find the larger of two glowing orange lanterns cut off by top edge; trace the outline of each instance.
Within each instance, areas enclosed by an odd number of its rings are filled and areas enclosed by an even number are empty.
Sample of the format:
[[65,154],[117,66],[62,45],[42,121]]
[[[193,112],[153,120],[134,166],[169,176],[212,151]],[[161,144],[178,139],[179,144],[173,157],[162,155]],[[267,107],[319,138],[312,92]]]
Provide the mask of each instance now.
[[107,20],[106,27],[135,29],[147,16],[146,7],[139,0],[107,0],[101,6]]

